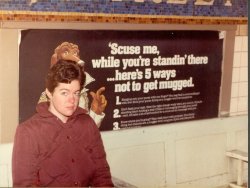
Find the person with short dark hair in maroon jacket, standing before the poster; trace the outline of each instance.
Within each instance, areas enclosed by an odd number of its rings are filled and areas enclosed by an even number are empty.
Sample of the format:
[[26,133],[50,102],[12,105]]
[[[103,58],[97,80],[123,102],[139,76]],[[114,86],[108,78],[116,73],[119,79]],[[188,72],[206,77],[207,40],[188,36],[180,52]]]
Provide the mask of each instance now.
[[101,135],[86,110],[78,107],[85,82],[81,67],[59,60],[49,70],[49,102],[16,130],[13,186],[113,186]]

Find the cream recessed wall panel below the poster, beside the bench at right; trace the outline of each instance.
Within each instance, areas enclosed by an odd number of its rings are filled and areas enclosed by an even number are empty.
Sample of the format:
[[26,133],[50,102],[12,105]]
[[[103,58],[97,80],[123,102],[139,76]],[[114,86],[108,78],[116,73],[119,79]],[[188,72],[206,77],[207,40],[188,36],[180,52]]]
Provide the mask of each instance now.
[[225,173],[226,142],[226,134],[177,141],[176,182],[183,183]]

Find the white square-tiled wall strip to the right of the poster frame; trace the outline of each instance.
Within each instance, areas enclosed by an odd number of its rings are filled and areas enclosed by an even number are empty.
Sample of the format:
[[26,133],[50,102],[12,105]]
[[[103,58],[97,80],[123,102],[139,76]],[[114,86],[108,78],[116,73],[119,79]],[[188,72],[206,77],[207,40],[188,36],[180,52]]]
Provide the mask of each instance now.
[[248,36],[247,26],[239,26],[234,47],[230,115],[248,114]]

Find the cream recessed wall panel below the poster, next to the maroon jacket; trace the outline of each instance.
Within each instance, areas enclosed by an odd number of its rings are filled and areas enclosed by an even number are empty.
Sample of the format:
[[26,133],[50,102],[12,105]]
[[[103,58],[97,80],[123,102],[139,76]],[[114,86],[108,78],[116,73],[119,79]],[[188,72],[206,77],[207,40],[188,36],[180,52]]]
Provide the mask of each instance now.
[[[164,143],[109,150],[108,162],[114,177],[138,187],[165,183]],[[143,171],[143,174],[141,172]],[[156,173],[157,172],[157,173]]]

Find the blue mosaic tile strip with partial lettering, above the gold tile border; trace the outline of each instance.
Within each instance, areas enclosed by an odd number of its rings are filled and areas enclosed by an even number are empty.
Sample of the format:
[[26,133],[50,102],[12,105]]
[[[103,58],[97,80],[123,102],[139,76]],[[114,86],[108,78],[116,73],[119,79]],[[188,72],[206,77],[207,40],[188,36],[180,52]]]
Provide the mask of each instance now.
[[[200,1],[212,2],[212,5],[197,5]],[[247,17],[247,0],[228,0],[229,6],[226,5],[225,0],[174,0],[172,2],[175,3],[170,3],[169,0],[140,2],[136,0],[1,0],[0,10]]]

